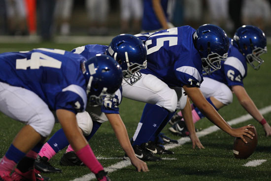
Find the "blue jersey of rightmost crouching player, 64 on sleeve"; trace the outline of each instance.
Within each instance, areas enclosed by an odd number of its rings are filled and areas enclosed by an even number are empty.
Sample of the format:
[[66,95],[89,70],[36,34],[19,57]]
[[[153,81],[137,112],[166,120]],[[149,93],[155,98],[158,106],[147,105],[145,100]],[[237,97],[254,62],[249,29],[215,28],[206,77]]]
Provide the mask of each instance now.
[[[231,39],[230,42],[232,42]],[[206,77],[225,83],[230,87],[233,85],[243,86],[243,78],[246,77],[246,74],[247,64],[245,57],[230,43],[228,58],[226,61],[221,61],[221,69],[206,75]]]

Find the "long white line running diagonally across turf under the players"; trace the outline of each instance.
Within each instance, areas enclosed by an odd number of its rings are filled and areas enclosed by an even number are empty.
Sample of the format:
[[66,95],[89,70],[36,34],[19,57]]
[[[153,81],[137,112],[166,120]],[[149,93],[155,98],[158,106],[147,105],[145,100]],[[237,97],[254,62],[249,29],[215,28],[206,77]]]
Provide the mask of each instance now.
[[[263,109],[260,109],[260,112],[261,114],[266,114],[268,112],[271,112],[271,106],[268,106],[268,107],[265,107]],[[238,123],[241,123],[241,122],[244,122],[244,121],[247,121],[249,119],[251,119],[252,116],[249,115],[249,114],[245,114],[245,115],[242,115],[240,117],[237,117],[231,121],[228,121],[228,123],[230,125],[235,125],[235,124],[238,124]],[[198,137],[203,137],[205,135],[208,135],[208,134],[211,134],[215,131],[219,130],[219,128],[217,126],[210,126],[200,132],[197,132],[197,135]],[[183,145],[187,142],[190,142],[190,138],[189,137],[183,137],[181,139],[178,140],[178,144],[168,144],[168,145],[165,145],[165,148],[166,149],[170,149],[170,148],[174,148],[174,147],[177,147],[177,146],[180,146],[180,145]],[[106,167],[104,168],[104,170],[108,173],[111,173],[111,172],[114,172],[116,170],[119,170],[119,169],[122,169],[122,168],[125,168],[127,166],[130,166],[131,165],[131,162],[130,161],[127,161],[127,160],[123,160],[123,161],[120,161],[114,165],[111,165],[109,167]],[[80,178],[77,178],[77,179],[74,179],[74,180],[71,180],[71,181],[89,181],[91,179],[95,179],[95,175],[93,173],[90,173],[90,174],[87,174],[87,175],[84,175],[83,177],[80,177]]]

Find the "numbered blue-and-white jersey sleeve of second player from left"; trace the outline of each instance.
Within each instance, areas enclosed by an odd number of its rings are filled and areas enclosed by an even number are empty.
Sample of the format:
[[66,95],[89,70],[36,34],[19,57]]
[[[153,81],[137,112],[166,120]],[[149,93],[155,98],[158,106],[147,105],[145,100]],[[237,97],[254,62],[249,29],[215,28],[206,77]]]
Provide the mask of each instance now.
[[102,105],[102,112],[111,113],[111,114],[119,114],[119,105],[122,101],[121,90],[118,89],[115,92],[115,97],[112,99],[104,99],[104,103]]

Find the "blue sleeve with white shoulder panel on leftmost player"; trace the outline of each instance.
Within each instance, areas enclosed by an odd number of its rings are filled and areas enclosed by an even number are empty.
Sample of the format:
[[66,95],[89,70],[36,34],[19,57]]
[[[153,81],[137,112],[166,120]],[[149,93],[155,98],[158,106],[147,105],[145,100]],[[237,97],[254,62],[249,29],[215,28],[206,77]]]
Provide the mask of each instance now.
[[87,95],[83,88],[70,85],[56,96],[55,109],[66,109],[74,112],[83,112],[87,105]]

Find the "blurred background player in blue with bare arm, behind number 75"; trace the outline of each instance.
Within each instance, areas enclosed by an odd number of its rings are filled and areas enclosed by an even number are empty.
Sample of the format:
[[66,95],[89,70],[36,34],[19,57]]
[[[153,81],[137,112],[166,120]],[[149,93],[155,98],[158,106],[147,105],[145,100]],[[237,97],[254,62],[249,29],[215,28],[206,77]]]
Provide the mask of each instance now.
[[174,0],[144,0],[141,33],[174,27],[169,22],[169,13],[172,11],[173,4]]

